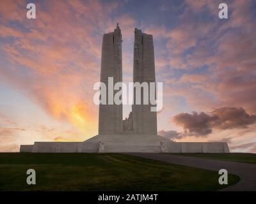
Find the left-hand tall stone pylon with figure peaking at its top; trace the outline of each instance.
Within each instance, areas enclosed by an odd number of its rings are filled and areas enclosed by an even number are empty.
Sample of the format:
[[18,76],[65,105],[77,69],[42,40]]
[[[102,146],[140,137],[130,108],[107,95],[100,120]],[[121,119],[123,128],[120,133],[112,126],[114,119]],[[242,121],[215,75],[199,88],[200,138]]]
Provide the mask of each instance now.
[[102,40],[102,55],[100,66],[100,82],[106,84],[107,105],[99,106],[99,135],[121,133],[123,131],[122,104],[109,105],[108,96],[118,91],[109,89],[108,78],[113,78],[113,84],[122,82],[122,33],[119,25],[112,33],[104,34]]

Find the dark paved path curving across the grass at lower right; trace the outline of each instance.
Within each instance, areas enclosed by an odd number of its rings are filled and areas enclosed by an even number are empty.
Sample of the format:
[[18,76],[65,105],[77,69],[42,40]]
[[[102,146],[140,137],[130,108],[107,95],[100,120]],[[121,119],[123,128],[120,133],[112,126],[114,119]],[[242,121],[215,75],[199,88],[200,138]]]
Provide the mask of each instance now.
[[256,164],[237,163],[232,161],[220,161],[214,159],[202,159],[189,156],[175,156],[172,154],[159,153],[127,153],[132,156],[155,159],[172,164],[182,164],[203,168],[205,170],[219,171],[224,168],[228,173],[238,175],[241,180],[234,186],[227,187],[222,191],[256,191]]

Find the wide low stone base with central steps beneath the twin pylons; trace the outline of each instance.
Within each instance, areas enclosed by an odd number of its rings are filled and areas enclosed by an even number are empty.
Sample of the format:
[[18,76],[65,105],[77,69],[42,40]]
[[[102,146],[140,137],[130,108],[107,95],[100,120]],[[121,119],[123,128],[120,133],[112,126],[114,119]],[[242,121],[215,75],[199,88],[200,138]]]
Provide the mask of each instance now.
[[115,135],[96,135],[84,142],[35,142],[34,145],[20,145],[20,152],[229,153],[229,149],[227,142],[173,142],[163,136],[127,132]]

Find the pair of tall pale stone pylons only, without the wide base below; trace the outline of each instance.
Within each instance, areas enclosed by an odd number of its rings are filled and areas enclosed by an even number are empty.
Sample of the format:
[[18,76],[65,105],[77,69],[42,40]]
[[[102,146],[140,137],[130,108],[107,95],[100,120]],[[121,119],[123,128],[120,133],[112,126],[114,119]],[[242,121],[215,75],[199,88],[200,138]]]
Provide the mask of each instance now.
[[[156,82],[154,62],[153,36],[141,33],[141,30],[134,31],[134,62],[133,82],[149,84]],[[114,84],[122,82],[122,33],[117,25],[113,33],[104,34],[102,40],[102,57],[100,68],[100,82],[108,87],[109,77],[113,78]],[[115,90],[108,90],[115,94]],[[147,96],[148,97],[148,96]],[[129,115],[129,124],[123,122],[123,108],[120,105],[99,105],[99,135],[123,133],[132,131],[136,134],[157,135],[157,115],[150,110],[150,104],[143,103],[143,92],[141,92],[141,103],[132,105],[132,112]],[[136,101],[136,94],[134,94]]]

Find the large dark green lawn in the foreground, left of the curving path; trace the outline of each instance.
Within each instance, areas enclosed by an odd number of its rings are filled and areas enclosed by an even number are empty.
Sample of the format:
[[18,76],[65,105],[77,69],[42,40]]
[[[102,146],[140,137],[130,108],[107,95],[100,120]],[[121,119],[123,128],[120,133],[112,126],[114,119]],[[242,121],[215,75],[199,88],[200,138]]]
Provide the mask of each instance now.
[[[36,185],[26,171],[36,171]],[[0,154],[0,191],[216,191],[218,172],[124,154]],[[239,181],[228,175],[228,184]]]

